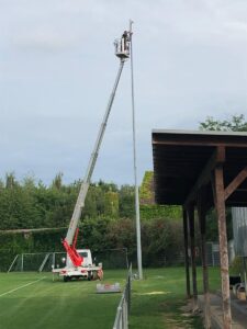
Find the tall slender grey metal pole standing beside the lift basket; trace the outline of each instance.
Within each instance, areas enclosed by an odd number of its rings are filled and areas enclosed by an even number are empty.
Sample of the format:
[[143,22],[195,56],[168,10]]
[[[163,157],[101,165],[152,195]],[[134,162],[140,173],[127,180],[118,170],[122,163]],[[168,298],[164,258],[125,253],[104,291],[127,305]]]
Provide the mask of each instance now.
[[133,24],[133,21],[130,20],[131,76],[132,76],[132,126],[133,126],[133,156],[134,156],[134,179],[135,179],[135,215],[136,215],[136,240],[137,240],[136,245],[137,245],[138,277],[139,277],[139,280],[143,280],[142,241],[141,241],[141,224],[139,224],[139,191],[138,191],[137,166],[136,166],[135,98],[134,98],[134,75],[133,75],[132,24]]

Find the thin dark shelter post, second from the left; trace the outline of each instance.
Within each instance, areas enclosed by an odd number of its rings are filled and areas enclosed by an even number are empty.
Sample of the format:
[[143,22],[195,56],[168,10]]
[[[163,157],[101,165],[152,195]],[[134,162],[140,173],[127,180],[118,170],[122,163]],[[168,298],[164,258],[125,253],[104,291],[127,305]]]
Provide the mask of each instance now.
[[188,207],[189,224],[190,224],[190,253],[191,253],[191,269],[192,269],[192,287],[193,287],[193,311],[198,307],[198,284],[197,284],[197,265],[195,265],[195,248],[194,248],[194,206]]

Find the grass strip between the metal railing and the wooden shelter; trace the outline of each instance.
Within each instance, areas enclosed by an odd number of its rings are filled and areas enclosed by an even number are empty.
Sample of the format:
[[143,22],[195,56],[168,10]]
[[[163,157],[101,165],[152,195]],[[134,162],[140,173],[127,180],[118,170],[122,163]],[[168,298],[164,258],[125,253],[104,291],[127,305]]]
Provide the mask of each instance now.
[[[183,268],[153,269],[145,280],[133,282],[131,329],[166,329],[202,327],[201,317],[188,317],[181,307],[187,304]],[[220,270],[210,268],[210,288],[221,285]],[[202,293],[202,271],[198,269],[198,288]]]

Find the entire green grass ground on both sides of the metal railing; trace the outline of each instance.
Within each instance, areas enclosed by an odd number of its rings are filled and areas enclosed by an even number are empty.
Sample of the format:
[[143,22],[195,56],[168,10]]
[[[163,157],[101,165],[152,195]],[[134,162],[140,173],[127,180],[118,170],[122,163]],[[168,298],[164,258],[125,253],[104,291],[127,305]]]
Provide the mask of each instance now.
[[[105,271],[104,283],[123,287],[125,275]],[[150,269],[144,275],[133,282],[131,329],[202,328],[200,318],[188,319],[180,310],[186,303],[183,268]],[[121,294],[98,295],[97,283],[53,282],[49,273],[1,273],[0,329],[112,328]],[[212,290],[218,285],[218,270],[211,269]]]

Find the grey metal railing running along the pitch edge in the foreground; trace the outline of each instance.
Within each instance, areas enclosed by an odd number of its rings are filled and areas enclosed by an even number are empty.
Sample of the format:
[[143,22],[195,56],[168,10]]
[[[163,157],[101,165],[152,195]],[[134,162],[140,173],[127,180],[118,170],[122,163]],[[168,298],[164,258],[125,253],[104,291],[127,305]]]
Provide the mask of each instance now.
[[120,304],[116,309],[115,321],[113,329],[127,329],[128,315],[131,310],[131,284],[132,284],[132,264],[130,265],[126,285],[123,291]]

